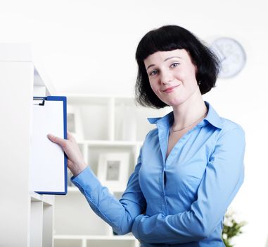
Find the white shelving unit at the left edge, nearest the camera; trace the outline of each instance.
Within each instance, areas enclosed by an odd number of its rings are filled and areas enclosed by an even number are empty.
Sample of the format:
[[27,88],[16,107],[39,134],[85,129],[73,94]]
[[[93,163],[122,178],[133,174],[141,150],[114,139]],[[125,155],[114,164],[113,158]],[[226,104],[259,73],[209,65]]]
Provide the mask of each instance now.
[[0,44],[0,246],[53,246],[53,195],[29,191],[32,97],[54,90],[28,44]]

